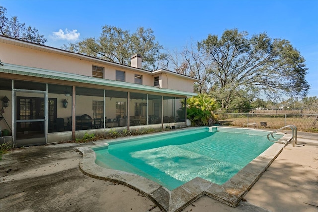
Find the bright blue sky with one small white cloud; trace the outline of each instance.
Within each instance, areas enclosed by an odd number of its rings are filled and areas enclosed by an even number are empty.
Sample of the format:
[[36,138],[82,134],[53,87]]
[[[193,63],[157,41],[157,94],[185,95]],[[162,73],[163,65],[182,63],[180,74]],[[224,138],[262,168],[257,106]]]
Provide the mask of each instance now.
[[[267,32],[271,38],[287,39],[306,59],[311,85],[308,96],[318,97],[318,1],[316,0],[1,0],[8,18],[43,34],[47,46],[87,37],[98,37],[102,26],[134,32],[152,28],[156,40],[168,50],[181,50],[208,34],[221,35],[238,28],[250,35]],[[68,40],[69,39],[69,40]]]

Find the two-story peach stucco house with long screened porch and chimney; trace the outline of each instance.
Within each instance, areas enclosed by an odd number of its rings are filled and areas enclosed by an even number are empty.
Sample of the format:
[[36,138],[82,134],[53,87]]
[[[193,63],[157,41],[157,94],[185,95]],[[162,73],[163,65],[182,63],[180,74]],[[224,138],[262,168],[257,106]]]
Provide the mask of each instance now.
[[184,103],[198,79],[141,63],[139,54],[127,66],[0,36],[1,142],[19,147],[113,128],[185,127]]

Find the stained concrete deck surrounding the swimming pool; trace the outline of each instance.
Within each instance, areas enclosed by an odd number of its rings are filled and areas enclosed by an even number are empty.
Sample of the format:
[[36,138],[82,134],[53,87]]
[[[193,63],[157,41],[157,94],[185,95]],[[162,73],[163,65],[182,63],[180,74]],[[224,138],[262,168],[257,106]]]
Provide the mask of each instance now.
[[[0,210],[161,211],[137,191],[81,173],[82,156],[73,148],[91,145],[36,146],[5,154],[0,161]],[[299,132],[298,145],[283,149],[236,208],[202,196],[183,211],[317,212],[317,201],[318,135]]]

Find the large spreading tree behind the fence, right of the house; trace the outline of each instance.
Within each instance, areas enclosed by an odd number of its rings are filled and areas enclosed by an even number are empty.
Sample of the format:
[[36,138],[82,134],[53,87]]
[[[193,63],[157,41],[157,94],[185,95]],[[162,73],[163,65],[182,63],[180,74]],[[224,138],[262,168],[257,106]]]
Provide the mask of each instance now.
[[236,91],[252,91],[256,97],[262,94],[275,100],[280,94],[304,97],[310,87],[300,52],[289,41],[271,39],[266,33],[249,37],[238,29],[225,30],[220,37],[208,35],[197,43],[197,49],[184,51],[187,65],[178,60],[176,70],[201,73],[194,75],[199,78],[204,74],[202,85],[211,83],[211,92],[219,95],[222,108],[231,106]]

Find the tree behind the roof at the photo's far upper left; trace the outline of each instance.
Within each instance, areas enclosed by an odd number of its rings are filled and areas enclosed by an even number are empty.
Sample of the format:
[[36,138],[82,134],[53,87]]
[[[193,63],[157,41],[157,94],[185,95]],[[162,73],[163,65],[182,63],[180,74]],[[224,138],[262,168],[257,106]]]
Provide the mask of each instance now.
[[29,41],[37,44],[45,44],[47,39],[40,35],[38,30],[20,23],[17,16],[8,19],[6,8],[0,6],[0,33],[4,36]]

